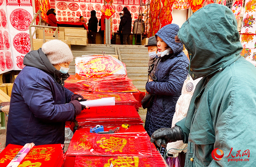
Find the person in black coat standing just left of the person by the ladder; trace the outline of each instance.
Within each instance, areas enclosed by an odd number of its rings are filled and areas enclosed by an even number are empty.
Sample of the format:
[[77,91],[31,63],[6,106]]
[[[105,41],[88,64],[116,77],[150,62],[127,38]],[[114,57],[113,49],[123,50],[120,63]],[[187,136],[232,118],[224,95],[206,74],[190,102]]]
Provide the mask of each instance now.
[[128,11],[127,7],[124,7],[122,11],[124,13],[124,16],[120,24],[123,27],[121,32],[123,34],[123,44],[130,45],[131,44],[130,34],[132,30],[132,17],[131,17],[132,15],[130,11]]

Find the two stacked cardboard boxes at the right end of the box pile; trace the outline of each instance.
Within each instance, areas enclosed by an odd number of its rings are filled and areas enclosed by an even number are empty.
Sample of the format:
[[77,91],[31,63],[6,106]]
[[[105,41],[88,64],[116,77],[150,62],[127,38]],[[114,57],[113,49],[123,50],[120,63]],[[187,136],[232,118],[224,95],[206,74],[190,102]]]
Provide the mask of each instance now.
[[87,45],[87,30],[65,28],[65,40],[71,45]]

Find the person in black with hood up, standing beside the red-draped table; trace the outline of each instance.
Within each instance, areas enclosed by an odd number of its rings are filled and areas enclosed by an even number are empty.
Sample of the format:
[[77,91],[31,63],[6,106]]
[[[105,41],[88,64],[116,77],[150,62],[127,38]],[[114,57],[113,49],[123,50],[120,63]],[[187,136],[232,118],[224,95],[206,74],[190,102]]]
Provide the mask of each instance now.
[[96,34],[98,31],[98,19],[96,17],[96,11],[91,11],[91,18],[88,21],[89,38],[92,40],[92,44],[96,44]]

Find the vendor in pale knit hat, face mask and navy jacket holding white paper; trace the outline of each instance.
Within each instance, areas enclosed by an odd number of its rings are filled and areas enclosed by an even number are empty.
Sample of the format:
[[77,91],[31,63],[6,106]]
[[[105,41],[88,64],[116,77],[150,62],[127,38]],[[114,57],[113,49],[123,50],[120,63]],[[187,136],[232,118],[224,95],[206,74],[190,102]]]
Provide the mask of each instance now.
[[65,122],[87,108],[79,102],[86,99],[64,87],[72,60],[69,46],[57,39],[25,55],[12,88],[6,146],[64,144]]

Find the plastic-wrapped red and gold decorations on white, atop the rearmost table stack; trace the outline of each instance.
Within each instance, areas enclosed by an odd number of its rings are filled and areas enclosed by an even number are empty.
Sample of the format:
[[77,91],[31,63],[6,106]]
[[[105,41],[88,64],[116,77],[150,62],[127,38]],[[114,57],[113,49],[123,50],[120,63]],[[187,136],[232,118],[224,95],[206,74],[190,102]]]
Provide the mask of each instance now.
[[110,55],[76,57],[76,73],[85,78],[127,76],[125,64]]

